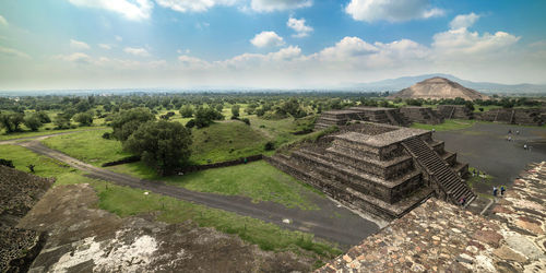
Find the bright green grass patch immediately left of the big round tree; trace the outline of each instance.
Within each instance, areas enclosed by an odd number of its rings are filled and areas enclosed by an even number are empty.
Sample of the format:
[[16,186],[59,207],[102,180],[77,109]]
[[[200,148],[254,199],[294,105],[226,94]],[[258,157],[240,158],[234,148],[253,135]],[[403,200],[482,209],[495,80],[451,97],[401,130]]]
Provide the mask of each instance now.
[[52,136],[44,140],[43,143],[95,166],[131,156],[131,153],[122,150],[121,142],[103,139],[102,135],[105,132],[111,132],[111,129]]

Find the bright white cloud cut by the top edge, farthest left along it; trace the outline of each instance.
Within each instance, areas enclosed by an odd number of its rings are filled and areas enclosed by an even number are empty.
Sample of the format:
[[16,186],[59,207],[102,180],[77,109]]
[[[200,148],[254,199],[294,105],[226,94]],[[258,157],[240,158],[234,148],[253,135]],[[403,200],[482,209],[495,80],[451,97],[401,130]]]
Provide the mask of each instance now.
[[74,5],[103,9],[121,14],[128,20],[149,19],[153,9],[151,0],[68,0]]

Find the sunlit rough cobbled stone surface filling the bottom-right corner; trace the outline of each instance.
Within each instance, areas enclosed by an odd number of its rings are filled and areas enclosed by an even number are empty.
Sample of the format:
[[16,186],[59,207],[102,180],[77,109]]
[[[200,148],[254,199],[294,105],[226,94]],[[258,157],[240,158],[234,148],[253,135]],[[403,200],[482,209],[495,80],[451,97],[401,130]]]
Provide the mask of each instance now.
[[429,199],[318,272],[546,272],[546,162],[521,176],[487,216]]

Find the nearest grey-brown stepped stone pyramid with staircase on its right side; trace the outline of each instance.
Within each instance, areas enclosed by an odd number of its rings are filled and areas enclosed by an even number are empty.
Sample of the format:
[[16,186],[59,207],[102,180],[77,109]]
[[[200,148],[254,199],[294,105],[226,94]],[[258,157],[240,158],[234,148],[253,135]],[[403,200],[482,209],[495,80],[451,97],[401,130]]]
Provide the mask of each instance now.
[[397,218],[436,195],[451,203],[475,194],[462,180],[467,164],[426,130],[356,121],[266,158],[347,206]]

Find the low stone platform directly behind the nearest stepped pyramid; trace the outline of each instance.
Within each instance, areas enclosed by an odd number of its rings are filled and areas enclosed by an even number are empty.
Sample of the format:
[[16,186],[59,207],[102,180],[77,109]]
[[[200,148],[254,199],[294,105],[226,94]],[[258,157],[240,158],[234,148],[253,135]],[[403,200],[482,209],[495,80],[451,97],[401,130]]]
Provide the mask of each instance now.
[[320,130],[331,126],[344,126],[351,120],[370,121],[392,126],[407,126],[408,120],[396,108],[383,107],[351,107],[345,110],[324,111],[320,115],[314,129]]

